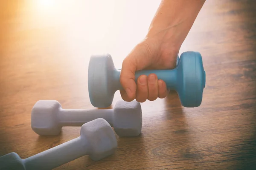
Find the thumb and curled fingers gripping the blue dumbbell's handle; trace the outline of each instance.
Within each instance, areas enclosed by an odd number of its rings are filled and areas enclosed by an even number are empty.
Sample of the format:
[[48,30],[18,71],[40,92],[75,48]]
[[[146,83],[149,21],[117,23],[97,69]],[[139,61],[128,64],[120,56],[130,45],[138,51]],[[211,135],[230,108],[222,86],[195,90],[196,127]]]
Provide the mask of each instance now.
[[[153,101],[157,97],[164,98],[167,95],[166,84],[160,81],[155,74],[140,76],[135,82],[135,72],[148,68],[154,63],[154,57],[159,51],[157,43],[143,40],[135,46],[130,54],[124,59],[120,73],[120,89],[122,99],[131,102],[136,99],[138,102],[145,102],[146,99]],[[162,84],[161,84],[162,83]]]

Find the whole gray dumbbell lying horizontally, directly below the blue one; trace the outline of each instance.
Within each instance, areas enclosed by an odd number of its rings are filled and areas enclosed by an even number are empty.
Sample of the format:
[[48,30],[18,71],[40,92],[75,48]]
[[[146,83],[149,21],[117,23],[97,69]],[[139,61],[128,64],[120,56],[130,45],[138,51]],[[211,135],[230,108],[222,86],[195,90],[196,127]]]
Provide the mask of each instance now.
[[61,127],[81,126],[103,118],[118,136],[135,137],[142,128],[141,105],[137,101],[116,102],[113,109],[63,109],[56,100],[39,100],[31,112],[31,127],[38,135],[58,135]]

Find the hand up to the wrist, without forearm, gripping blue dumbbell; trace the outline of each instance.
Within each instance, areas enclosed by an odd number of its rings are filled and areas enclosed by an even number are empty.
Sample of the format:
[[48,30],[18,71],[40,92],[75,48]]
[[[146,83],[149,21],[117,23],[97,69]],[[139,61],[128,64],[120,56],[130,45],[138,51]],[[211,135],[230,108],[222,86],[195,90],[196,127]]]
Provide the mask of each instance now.
[[149,35],[124,59],[120,74],[120,82],[124,90],[120,90],[122,99],[145,102],[157,98],[165,98],[168,94],[166,83],[156,74],[141,75],[135,82],[135,72],[144,69],[172,69],[176,66],[179,46],[172,41],[164,41],[164,31]]

